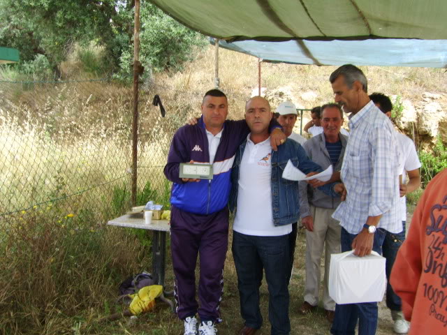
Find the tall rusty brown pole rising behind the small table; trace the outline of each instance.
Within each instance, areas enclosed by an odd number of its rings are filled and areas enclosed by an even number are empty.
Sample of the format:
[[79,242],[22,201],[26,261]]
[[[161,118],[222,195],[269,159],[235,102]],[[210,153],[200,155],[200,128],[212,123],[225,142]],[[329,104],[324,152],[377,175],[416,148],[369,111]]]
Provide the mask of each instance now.
[[137,200],[137,150],[138,150],[138,81],[140,80],[140,0],[135,0],[135,22],[133,24],[133,119],[132,119],[132,190],[131,201]]

